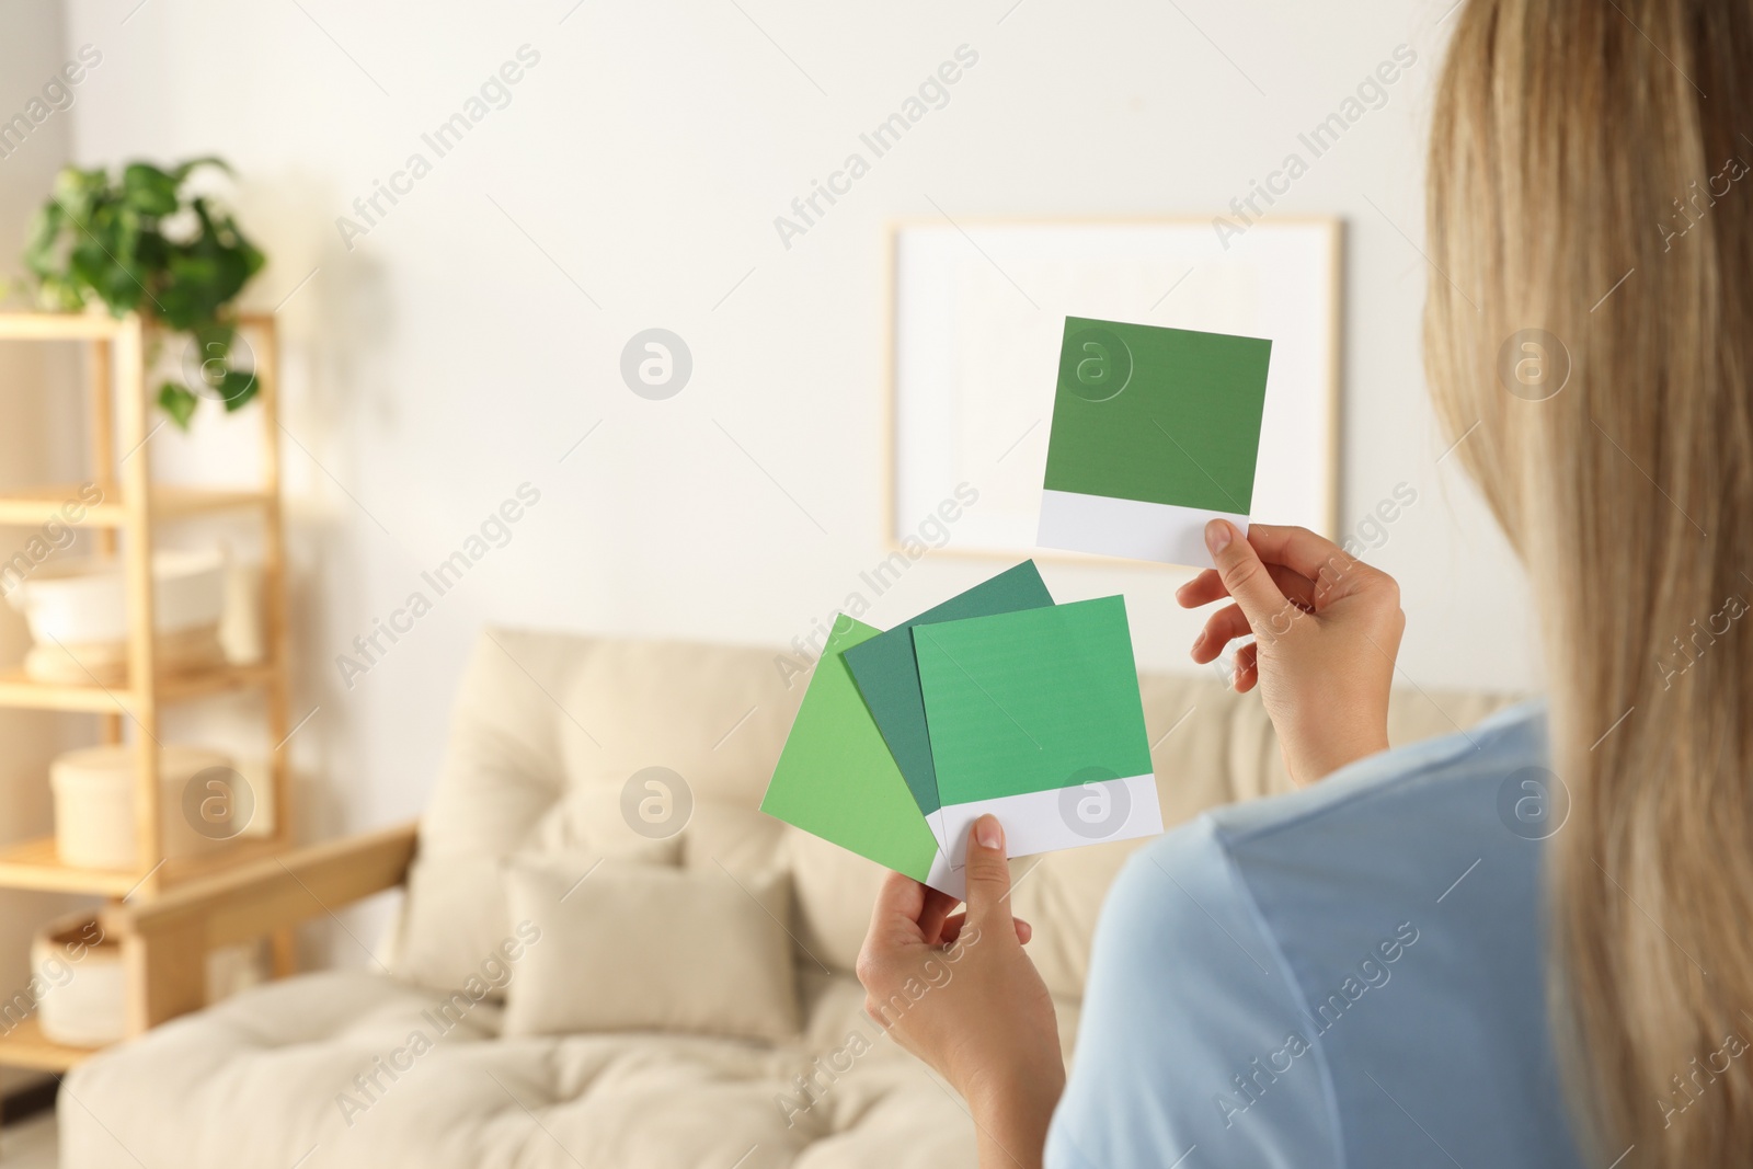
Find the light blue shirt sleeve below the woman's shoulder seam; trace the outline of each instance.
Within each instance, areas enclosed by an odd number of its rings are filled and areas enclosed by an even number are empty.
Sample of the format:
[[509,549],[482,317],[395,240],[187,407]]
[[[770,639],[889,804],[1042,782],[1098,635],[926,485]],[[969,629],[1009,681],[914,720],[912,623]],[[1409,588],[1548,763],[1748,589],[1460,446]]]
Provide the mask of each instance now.
[[1134,855],[1090,955],[1048,1169],[1343,1164],[1315,1029],[1210,818]]

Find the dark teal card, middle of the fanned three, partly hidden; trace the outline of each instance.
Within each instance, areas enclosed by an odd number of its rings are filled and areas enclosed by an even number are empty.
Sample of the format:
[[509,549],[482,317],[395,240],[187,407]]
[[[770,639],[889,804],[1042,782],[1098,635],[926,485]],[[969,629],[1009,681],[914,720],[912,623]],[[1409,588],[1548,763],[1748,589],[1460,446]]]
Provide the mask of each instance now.
[[938,771],[931,761],[931,733],[926,729],[926,696],[919,689],[919,662],[913,659],[913,626],[964,617],[1008,613],[1018,608],[1052,605],[1054,598],[1034,561],[1024,561],[976,584],[968,592],[901,622],[889,633],[847,650],[847,666],[894,755],[913,803],[924,813],[938,810]]

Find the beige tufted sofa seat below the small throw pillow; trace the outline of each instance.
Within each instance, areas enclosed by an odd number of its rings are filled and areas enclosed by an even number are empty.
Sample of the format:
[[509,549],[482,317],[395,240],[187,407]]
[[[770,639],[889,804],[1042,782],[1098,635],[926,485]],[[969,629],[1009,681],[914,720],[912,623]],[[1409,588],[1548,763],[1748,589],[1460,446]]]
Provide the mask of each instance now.
[[[808,995],[840,1036],[855,983]],[[515,985],[515,981],[514,981]],[[862,997],[857,999],[859,1003]],[[109,1048],[61,1088],[63,1169],[952,1169],[973,1125],[878,1038],[824,1053],[663,1034],[500,1038],[480,1003],[440,1032],[445,997],[370,973],[247,990]],[[428,1050],[410,1053],[424,1034]],[[400,1066],[400,1069],[398,1069]],[[833,1066],[829,1066],[833,1069]],[[394,1076],[391,1076],[394,1073]],[[799,1081],[815,1078],[808,1109]],[[303,1158],[303,1160],[300,1160]]]

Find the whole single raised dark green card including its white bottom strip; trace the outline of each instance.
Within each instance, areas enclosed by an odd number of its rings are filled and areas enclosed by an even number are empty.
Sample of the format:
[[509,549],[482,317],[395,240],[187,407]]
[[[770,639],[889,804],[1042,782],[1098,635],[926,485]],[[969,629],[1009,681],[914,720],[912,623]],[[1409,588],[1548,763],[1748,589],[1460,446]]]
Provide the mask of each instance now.
[[1210,566],[1204,526],[1248,531],[1273,344],[1066,317],[1040,543]]

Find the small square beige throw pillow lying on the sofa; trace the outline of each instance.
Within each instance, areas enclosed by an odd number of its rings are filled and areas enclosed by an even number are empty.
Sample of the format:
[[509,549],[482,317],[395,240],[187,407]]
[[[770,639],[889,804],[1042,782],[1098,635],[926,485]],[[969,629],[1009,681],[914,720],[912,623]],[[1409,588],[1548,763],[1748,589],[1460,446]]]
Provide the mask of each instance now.
[[507,994],[507,1036],[798,1032],[784,869],[512,861],[507,883],[512,918],[542,938]]

